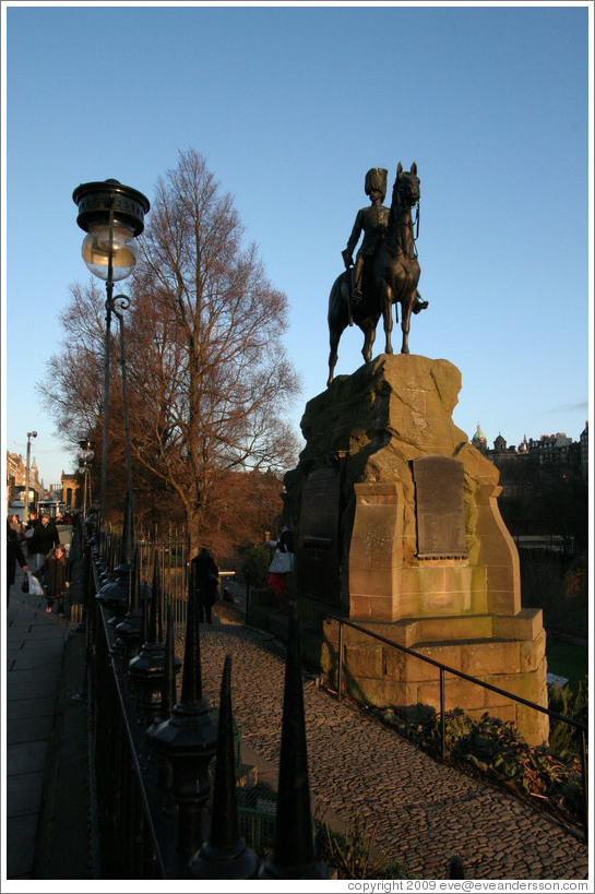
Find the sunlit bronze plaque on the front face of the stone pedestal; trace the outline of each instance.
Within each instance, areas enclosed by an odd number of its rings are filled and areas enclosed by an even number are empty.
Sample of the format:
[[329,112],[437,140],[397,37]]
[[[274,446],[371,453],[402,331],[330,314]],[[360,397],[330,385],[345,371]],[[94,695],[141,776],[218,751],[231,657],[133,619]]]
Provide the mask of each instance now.
[[419,559],[467,557],[463,463],[449,456],[413,461]]

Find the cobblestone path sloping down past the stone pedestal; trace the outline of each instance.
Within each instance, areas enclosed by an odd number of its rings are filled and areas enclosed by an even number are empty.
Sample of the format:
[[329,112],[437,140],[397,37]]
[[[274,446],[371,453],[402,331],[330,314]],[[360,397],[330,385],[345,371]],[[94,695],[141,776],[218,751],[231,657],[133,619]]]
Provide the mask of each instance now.
[[[233,656],[234,714],[243,742],[278,763],[284,648],[236,624],[201,625],[203,691],[213,706]],[[587,847],[547,814],[435,762],[394,730],[305,681],[310,790],[348,823],[354,809],[378,844],[421,879],[453,855],[469,879],[586,879]]]

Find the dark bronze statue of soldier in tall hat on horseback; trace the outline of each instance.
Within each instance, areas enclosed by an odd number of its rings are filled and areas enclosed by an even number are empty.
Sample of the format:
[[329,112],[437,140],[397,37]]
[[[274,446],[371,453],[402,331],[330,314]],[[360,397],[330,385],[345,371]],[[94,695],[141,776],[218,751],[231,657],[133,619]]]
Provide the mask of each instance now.
[[[365,191],[371,205],[358,211],[347,248],[342,252],[346,270],[333,283],[329,296],[329,381],[333,381],[341,335],[355,322],[364,332],[361,354],[366,362],[372,359],[376,327],[382,315],[386,338],[385,354],[392,354],[392,306],[401,303],[402,354],[409,353],[408,336],[412,313],[428,307],[417,290],[419,264],[414,236],[412,208],[417,206],[419,230],[419,178],[415,162],[404,171],[396,168],[391,207],[382,202],[386,194],[385,168],[371,168],[365,180]],[[353,252],[364,233],[356,257]],[[398,314],[396,314],[398,321]]]

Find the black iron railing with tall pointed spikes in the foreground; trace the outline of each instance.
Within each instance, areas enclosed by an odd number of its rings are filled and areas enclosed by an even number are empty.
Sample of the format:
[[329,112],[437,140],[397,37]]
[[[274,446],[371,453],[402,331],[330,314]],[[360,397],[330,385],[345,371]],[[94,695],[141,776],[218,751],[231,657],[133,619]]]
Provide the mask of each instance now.
[[[175,630],[158,643],[160,569],[141,606],[136,568],[121,575],[117,598],[104,583],[116,553],[88,529],[84,569],[94,877],[100,879],[325,878],[316,859],[308,790],[297,613],[286,663],[273,857],[262,862],[239,834],[236,742],[226,660],[218,712],[202,696],[195,582],[189,582],[181,690],[175,682]],[[90,536],[92,535],[92,536]],[[95,536],[97,535],[97,536]],[[151,563],[145,562],[145,569]],[[145,572],[146,573],[146,572]],[[126,600],[122,587],[129,587]],[[148,603],[151,607],[148,608]],[[139,622],[139,616],[140,622]],[[179,669],[179,661],[178,661]],[[179,695],[177,693],[179,692]],[[210,768],[214,759],[213,773]]]

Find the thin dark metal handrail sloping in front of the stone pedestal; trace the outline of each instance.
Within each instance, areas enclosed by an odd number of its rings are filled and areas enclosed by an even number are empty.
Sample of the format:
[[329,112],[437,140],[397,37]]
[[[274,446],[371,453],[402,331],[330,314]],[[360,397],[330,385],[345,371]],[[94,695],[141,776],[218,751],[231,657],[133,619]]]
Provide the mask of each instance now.
[[588,788],[587,788],[587,765],[586,765],[586,742],[585,742],[585,734],[588,734],[588,727],[585,724],[581,724],[579,720],[573,720],[571,717],[567,717],[564,714],[558,714],[556,711],[551,711],[549,707],[542,707],[542,705],[536,704],[535,702],[529,702],[527,699],[523,699],[521,695],[515,695],[513,692],[508,692],[505,689],[500,689],[499,687],[492,686],[491,683],[486,683],[484,680],[479,680],[477,677],[472,677],[468,674],[464,674],[462,670],[455,670],[455,668],[450,667],[449,665],[443,664],[442,661],[437,661],[435,658],[428,658],[426,655],[421,655],[421,653],[416,652],[413,648],[408,648],[407,646],[401,645],[401,643],[395,643],[394,640],[389,640],[386,636],[382,636],[380,633],[374,633],[372,630],[366,630],[366,628],[360,627],[359,624],[354,623],[354,621],[348,621],[346,618],[342,618],[338,615],[326,615],[326,620],[338,621],[338,668],[337,668],[337,701],[341,700],[341,690],[342,690],[342,677],[343,677],[343,624],[353,628],[354,630],[359,631],[360,633],[365,633],[367,636],[371,636],[373,640],[378,640],[381,643],[385,643],[389,646],[393,646],[394,648],[398,648],[401,652],[407,653],[407,655],[413,655],[415,658],[419,658],[421,661],[426,661],[426,664],[433,665],[440,671],[440,738],[441,738],[441,752],[442,759],[445,758],[447,753],[447,746],[445,746],[445,723],[444,723],[444,674],[454,674],[455,677],[461,677],[463,680],[467,680],[471,683],[475,683],[476,686],[481,686],[484,689],[489,689],[491,692],[497,692],[499,695],[504,695],[508,699],[512,699],[520,704],[526,705],[527,707],[532,707],[535,711],[540,711],[542,714],[547,714],[548,717],[554,717],[556,720],[561,720],[562,723],[568,724],[569,726],[573,726],[575,729],[581,731],[581,775],[582,775],[582,783],[583,783],[583,803],[584,803],[584,811],[585,811],[585,820],[584,820],[584,830],[585,830],[585,839],[588,838]]

